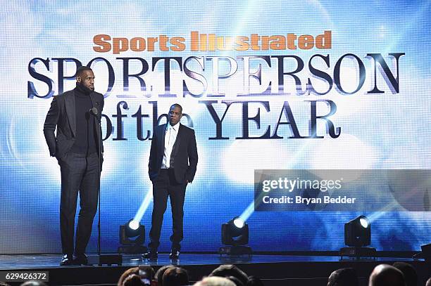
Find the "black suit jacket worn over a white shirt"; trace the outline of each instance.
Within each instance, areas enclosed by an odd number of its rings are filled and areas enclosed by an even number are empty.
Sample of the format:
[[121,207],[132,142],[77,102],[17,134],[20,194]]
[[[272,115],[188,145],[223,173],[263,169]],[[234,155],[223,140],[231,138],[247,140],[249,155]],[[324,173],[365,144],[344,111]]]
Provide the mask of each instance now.
[[[148,164],[148,173],[151,181],[157,178],[163,161],[165,152],[165,132],[168,124],[156,126],[153,140],[151,141],[151,151]],[[193,181],[196,174],[198,161],[196,137],[194,130],[180,124],[177,139],[170,154],[170,168],[174,169],[175,181],[184,183],[185,180]]]

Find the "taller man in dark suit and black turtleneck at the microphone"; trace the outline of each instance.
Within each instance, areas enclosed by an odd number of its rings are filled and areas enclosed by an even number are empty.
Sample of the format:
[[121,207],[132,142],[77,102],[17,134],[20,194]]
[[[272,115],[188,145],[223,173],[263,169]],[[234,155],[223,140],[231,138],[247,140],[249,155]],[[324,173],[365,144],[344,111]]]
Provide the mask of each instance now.
[[[91,68],[79,67],[76,75],[75,89],[54,96],[44,123],[49,153],[56,157],[61,170],[61,266],[87,264],[85,248],[97,211],[103,160],[99,160],[99,149],[103,152],[99,121],[104,96],[94,91]],[[73,247],[78,193],[80,213]]]

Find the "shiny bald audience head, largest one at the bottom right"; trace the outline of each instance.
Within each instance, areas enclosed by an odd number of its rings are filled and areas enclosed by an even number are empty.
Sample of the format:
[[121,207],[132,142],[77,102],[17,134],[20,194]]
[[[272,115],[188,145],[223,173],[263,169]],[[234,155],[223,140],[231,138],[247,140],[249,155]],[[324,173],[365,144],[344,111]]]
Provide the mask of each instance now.
[[380,264],[375,266],[371,273],[368,286],[406,286],[406,282],[399,269],[388,264]]

